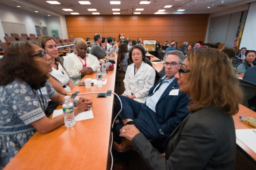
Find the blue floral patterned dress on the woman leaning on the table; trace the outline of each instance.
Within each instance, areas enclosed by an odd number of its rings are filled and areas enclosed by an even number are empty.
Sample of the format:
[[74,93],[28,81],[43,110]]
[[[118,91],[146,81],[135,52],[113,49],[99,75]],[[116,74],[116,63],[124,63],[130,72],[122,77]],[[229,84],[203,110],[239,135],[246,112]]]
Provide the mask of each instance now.
[[47,81],[45,87],[13,81],[0,86],[0,169],[19,152],[36,132],[30,123],[45,117],[49,98],[57,93]]

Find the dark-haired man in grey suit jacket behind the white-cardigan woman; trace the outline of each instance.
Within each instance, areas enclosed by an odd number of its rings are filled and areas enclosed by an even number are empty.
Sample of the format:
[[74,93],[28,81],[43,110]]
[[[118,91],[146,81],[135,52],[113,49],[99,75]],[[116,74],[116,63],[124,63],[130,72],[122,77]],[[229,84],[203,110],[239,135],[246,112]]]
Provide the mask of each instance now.
[[[106,44],[105,43],[101,43],[102,37],[100,34],[95,34],[94,35],[94,43],[91,47],[90,50],[90,54],[94,55],[98,60],[100,58],[104,58],[105,57],[105,52],[106,52]],[[102,47],[102,49],[101,49]]]

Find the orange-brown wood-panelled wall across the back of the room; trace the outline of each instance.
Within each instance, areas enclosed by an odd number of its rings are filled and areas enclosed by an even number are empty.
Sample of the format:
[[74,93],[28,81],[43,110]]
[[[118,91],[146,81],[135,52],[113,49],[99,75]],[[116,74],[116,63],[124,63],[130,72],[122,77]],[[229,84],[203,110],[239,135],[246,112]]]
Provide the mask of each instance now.
[[102,37],[119,34],[130,39],[154,39],[164,44],[175,40],[178,47],[183,42],[189,44],[204,41],[208,23],[208,14],[178,15],[102,15],[102,16],[66,16],[67,30],[70,36],[91,37],[96,33]]

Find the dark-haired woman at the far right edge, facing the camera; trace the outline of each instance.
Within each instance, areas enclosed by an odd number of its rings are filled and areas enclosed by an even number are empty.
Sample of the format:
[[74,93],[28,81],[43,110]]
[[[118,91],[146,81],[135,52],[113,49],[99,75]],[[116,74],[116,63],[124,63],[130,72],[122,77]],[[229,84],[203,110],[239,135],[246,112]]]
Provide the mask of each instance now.
[[237,66],[237,74],[244,75],[247,68],[254,66],[253,61],[256,58],[255,51],[248,51],[245,55],[245,61]]

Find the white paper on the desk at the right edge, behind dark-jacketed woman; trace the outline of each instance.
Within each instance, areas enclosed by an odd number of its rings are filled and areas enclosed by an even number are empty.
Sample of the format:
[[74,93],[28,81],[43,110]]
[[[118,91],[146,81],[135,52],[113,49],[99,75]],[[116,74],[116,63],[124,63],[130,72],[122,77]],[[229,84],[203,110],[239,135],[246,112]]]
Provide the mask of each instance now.
[[237,129],[236,137],[256,153],[256,129]]

